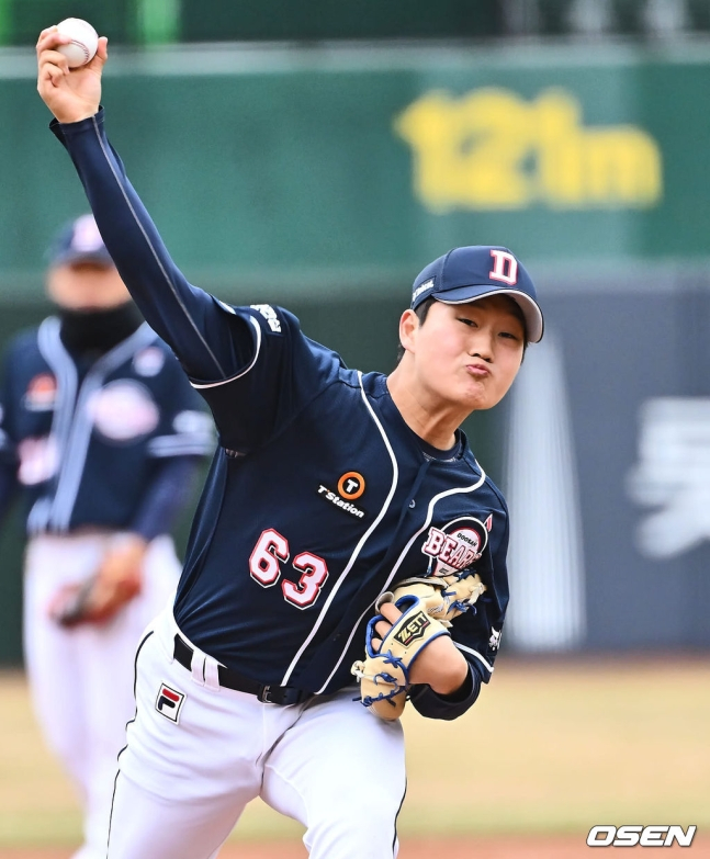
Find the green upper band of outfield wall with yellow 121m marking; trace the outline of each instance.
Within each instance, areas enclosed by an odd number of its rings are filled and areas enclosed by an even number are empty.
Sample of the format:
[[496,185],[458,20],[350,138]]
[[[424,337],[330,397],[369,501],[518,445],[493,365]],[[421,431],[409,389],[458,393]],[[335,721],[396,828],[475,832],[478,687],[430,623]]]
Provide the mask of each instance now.
[[[13,57],[15,58],[13,61]],[[84,207],[31,57],[0,59],[0,290]],[[405,289],[447,248],[530,263],[708,256],[710,48],[154,50],[110,136],[181,267],[225,291]]]

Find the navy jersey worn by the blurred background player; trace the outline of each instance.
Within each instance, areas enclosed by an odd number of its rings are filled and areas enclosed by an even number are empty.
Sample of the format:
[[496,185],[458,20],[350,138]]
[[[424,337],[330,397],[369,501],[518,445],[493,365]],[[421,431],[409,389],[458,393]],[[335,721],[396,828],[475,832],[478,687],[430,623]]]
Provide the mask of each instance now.
[[167,457],[212,452],[212,421],[145,323],[86,368],[59,329],[49,317],[8,349],[0,456],[24,489],[29,533],[129,530]]

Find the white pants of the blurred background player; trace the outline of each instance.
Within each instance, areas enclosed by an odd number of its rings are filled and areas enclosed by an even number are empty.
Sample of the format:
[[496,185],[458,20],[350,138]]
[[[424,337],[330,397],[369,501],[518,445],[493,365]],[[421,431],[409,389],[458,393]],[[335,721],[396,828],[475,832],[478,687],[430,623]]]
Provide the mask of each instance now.
[[95,573],[109,534],[33,538],[25,555],[24,654],[37,721],[76,783],[84,844],[75,859],[105,859],[119,751],[135,713],[134,657],[148,622],[172,601],[180,562],[172,540],[146,554],[144,587],[106,623],[64,629],[48,615],[63,585]]

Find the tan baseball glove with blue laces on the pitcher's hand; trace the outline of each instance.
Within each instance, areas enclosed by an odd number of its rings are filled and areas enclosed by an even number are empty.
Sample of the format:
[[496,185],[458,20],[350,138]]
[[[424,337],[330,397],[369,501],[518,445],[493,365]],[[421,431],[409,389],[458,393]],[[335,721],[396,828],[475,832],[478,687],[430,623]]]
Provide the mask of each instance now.
[[478,574],[408,578],[399,581],[394,592],[383,594],[375,608],[394,602],[403,614],[382,641],[380,651],[372,646],[380,637],[375,624],[377,614],[368,623],[365,658],[352,665],[351,672],[360,681],[360,698],[371,713],[392,721],[398,719],[407,702],[412,664],[439,635],[447,635],[451,621],[484,592]]

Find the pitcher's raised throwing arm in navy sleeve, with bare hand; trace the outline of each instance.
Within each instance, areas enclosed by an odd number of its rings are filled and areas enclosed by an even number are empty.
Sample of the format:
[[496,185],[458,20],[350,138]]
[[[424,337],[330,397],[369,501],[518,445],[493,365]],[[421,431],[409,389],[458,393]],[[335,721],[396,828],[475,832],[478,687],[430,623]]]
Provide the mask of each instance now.
[[106,248],[146,320],[185,372],[203,381],[228,378],[249,364],[253,329],[188,283],[110,145],[100,106],[105,37],[93,60],[76,69],[56,50],[66,41],[56,27],[42,32],[37,90],[55,116],[52,131],[71,156]]

